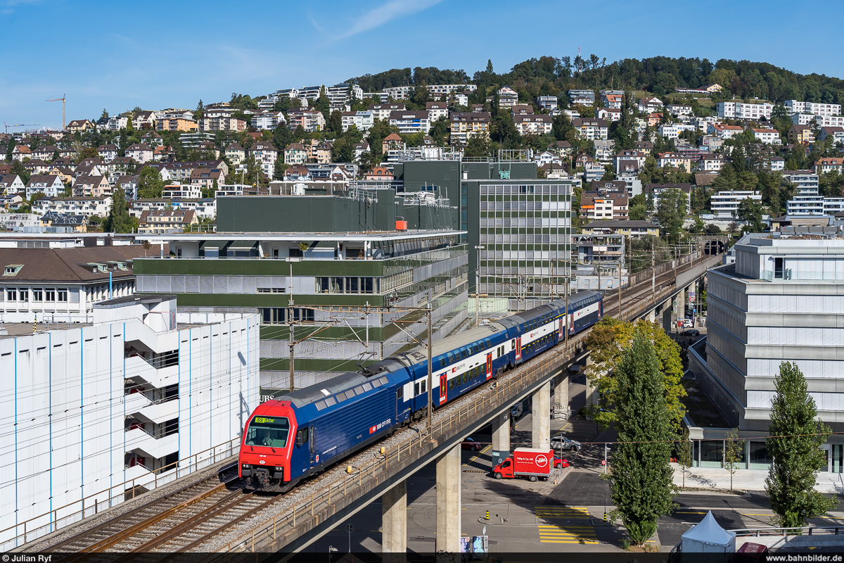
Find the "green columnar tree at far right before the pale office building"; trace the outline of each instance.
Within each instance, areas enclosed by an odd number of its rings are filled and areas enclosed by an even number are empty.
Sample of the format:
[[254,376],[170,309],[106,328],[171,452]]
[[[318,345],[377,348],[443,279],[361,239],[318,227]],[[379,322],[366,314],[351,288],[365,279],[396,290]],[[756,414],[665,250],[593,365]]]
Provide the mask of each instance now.
[[818,472],[826,467],[820,449],[830,437],[830,427],[818,418],[814,398],[797,364],[782,362],[774,377],[771,424],[766,440],[773,463],[765,479],[776,525],[798,528],[807,518],[818,517],[838,503],[814,490]]

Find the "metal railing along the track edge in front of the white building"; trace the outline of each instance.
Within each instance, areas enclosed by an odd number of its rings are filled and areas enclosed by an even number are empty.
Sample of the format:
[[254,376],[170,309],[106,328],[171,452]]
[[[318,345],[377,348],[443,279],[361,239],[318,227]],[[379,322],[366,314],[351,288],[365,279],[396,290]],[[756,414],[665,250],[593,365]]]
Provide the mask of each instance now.
[[[160,485],[166,485],[200,469],[223,462],[237,454],[240,443],[241,438],[238,436],[230,441],[219,444],[219,446],[210,447],[190,457],[184,457],[164,467],[118,483],[109,489],[100,490],[92,495],[84,496],[78,501],[59,506],[50,512],[45,512],[39,516],[24,520],[24,522],[19,522],[14,526],[4,528],[0,530],[0,538],[3,538],[10,531],[15,535],[0,543],[0,551],[8,551],[8,549],[41,538],[48,533],[56,532],[83,518],[94,516],[100,512],[100,508],[105,510],[111,506],[116,506],[126,500],[124,497],[127,491],[134,490],[138,483],[151,483],[153,484],[153,488],[158,488]],[[233,460],[232,463],[235,463],[235,461]],[[180,467],[180,464],[185,465]],[[45,518],[49,518],[49,522],[39,522]]]

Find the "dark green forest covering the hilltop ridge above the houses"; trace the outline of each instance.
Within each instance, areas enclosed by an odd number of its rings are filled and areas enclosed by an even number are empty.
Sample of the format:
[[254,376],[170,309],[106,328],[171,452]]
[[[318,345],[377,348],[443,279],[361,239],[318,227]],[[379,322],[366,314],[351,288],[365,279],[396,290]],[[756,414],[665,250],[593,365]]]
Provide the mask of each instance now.
[[[560,95],[567,89],[634,89],[653,95],[674,92],[675,88],[695,88],[705,84],[721,84],[725,96],[762,98],[772,101],[804,100],[823,103],[844,103],[844,80],[823,74],[798,74],[767,62],[721,59],[712,63],[706,58],[650,57],[625,58],[607,62],[596,55],[589,57],[539,57],[518,63],[508,73],[495,73],[490,62],[487,68],[471,77],[463,70],[429,68],[394,68],[383,73],[349,78],[365,92],[376,92],[391,86],[422,84],[478,84],[478,97],[489,95],[486,87],[508,84],[525,94]],[[475,100],[472,100],[473,103]],[[480,100],[483,101],[483,100]]]

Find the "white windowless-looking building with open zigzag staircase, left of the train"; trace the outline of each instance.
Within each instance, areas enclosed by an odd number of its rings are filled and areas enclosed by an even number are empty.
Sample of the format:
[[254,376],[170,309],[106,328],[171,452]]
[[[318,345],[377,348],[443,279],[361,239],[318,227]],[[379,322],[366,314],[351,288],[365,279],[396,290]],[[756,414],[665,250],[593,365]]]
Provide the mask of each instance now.
[[15,476],[0,484],[0,540],[235,455],[259,403],[259,324],[254,312],[218,318],[129,295],[96,304],[93,322],[0,336],[0,355],[14,355],[4,408],[26,413],[0,422],[0,463]]

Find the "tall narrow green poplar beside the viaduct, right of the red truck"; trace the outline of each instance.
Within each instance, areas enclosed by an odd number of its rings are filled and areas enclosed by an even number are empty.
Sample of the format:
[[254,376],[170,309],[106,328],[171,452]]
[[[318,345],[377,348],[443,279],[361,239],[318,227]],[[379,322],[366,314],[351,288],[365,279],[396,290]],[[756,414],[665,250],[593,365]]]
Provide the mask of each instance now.
[[636,335],[619,361],[619,446],[611,466],[610,491],[630,540],[644,545],[657,532],[659,517],[671,512],[671,457],[674,434],[665,402],[663,377],[653,345]]

